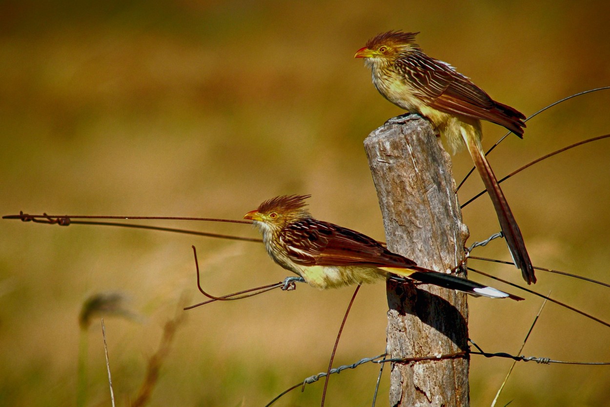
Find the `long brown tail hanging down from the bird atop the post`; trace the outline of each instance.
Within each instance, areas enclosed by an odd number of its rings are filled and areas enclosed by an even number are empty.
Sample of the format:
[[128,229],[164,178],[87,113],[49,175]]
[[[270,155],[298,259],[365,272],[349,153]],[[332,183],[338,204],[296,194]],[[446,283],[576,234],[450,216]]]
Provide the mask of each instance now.
[[485,157],[483,147],[481,147],[480,137],[476,134],[468,132],[467,129],[462,128],[462,137],[468,147],[472,160],[475,161],[475,167],[483,179],[487,193],[492,199],[493,208],[495,208],[500,221],[500,227],[504,233],[504,239],[508,244],[508,248],[511,251],[512,260],[514,260],[517,268],[521,269],[523,280],[527,281],[528,284],[536,283],[536,275],[534,275],[534,267],[532,266],[531,260],[529,260],[529,254],[525,249],[525,242],[523,242],[523,236],[515,217],[512,214],[511,208],[506,202],[506,198],[498,185],[498,180],[493,174],[492,168],[489,165],[489,161]]

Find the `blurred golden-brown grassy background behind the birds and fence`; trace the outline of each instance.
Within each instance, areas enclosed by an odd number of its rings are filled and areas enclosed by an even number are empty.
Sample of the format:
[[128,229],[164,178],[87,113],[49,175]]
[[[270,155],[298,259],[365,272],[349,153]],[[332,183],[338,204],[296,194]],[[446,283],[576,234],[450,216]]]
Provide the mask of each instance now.
[[[1,214],[105,214],[241,219],[278,194],[312,194],[317,218],[384,239],[362,140],[401,110],[370,82],[357,49],[390,29],[418,43],[494,99],[526,115],[610,85],[610,3],[354,1],[3,1],[0,3]],[[498,177],[553,150],[610,132],[610,91],[578,97],[528,122],[490,155]],[[485,145],[505,130],[484,127]],[[537,266],[610,282],[610,141],[570,150],[503,183]],[[454,156],[461,180],[472,166]],[[472,177],[465,202],[482,188]],[[471,239],[499,227],[486,196],[464,210]],[[144,224],[144,222],[141,222]],[[240,236],[247,225],[157,221]],[[0,245],[0,404],[76,405],[78,315],[96,292],[131,298],[138,321],[106,318],[118,405],[133,402],[163,324],[179,306],[287,274],[249,242],[113,227],[4,220]],[[473,255],[509,260],[503,242]],[[417,259],[416,259],[417,260]],[[473,267],[523,283],[514,267]],[[608,289],[537,273],[536,291],[610,320]],[[516,353],[541,305],[470,300],[470,336]],[[353,290],[294,292],[187,312],[151,405],[264,405],[326,371]],[[182,295],[189,302],[181,303]],[[384,285],[366,286],[335,364],[385,347]],[[85,333],[87,405],[108,405],[99,319]],[[523,353],[610,360],[610,329],[548,304]],[[489,405],[511,361],[472,358],[473,406]],[[333,375],[327,405],[371,403],[378,366]],[[389,369],[378,406],[388,404]],[[317,405],[323,385],[278,406]],[[610,367],[519,363],[506,405],[610,403]]]

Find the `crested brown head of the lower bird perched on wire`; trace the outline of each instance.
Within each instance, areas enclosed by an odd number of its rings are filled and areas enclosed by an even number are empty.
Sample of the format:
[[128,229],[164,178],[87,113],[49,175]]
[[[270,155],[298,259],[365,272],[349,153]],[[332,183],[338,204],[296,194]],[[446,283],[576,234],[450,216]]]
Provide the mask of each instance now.
[[276,196],[261,203],[256,210],[249,211],[243,219],[250,219],[254,224],[271,229],[283,228],[303,218],[310,218],[305,209],[305,200],[310,195]]

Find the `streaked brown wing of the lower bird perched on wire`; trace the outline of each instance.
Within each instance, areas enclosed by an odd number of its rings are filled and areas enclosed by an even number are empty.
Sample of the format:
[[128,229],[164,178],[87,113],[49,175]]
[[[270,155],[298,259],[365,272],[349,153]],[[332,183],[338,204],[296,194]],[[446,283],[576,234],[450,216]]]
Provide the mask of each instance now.
[[414,266],[362,233],[316,219],[294,222],[280,232],[292,261],[305,266]]

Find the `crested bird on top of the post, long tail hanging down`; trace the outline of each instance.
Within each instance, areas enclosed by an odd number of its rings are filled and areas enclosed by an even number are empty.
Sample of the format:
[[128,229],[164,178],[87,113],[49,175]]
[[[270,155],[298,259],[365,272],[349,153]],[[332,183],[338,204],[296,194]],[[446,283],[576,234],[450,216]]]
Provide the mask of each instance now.
[[[523,138],[525,116],[494,101],[453,66],[424,54],[414,42],[417,34],[400,31],[379,34],[368,40],[367,46],[354,57],[364,58],[375,88],[387,100],[409,113],[428,118],[454,152],[465,144],[492,199],[515,266],[521,269],[523,280],[536,283],[519,225],[481,146],[481,120],[500,124]],[[400,122],[400,118],[390,122]]]

